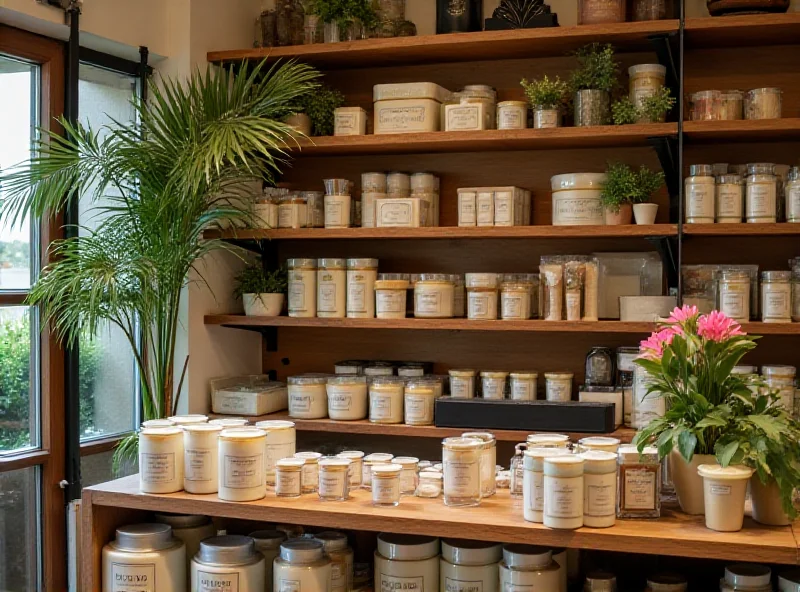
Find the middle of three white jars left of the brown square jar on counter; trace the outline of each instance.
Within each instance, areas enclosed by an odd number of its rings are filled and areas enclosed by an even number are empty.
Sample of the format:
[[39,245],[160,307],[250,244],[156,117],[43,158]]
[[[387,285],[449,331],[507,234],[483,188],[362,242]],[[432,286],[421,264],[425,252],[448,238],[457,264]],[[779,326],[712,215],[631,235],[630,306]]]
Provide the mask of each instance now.
[[549,528],[583,526],[583,464],[576,455],[544,459],[544,520]]

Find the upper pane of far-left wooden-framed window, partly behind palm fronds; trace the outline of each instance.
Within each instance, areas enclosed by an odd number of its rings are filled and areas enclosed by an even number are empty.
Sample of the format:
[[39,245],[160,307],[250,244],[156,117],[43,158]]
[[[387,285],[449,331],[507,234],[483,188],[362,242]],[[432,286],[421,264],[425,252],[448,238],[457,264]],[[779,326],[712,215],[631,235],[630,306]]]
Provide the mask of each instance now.
[[[0,170],[13,168],[31,154],[38,125],[38,66],[0,56]],[[0,200],[4,197],[0,187]],[[0,225],[0,290],[31,285],[31,225],[25,220]]]

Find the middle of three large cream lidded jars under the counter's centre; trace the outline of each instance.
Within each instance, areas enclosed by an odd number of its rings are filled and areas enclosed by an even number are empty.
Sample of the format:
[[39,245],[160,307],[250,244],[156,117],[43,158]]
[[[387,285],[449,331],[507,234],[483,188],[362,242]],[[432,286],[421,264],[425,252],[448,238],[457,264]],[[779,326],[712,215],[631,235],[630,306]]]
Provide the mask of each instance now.
[[439,592],[498,592],[503,547],[497,543],[442,540]]

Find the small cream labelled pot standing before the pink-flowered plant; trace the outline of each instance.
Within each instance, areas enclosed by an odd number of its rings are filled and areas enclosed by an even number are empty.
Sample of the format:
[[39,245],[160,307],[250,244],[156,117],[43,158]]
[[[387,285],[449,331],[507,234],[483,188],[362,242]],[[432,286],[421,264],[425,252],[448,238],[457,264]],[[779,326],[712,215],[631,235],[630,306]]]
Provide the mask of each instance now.
[[742,465],[721,467],[700,465],[706,506],[706,528],[717,532],[736,532],[744,521],[744,497],[753,469]]

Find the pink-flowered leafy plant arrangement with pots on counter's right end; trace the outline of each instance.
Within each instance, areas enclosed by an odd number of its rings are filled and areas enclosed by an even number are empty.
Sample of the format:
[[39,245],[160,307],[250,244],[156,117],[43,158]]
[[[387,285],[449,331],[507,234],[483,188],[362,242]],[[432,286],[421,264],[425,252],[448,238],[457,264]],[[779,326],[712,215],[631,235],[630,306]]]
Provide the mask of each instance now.
[[[706,525],[715,530],[741,528],[754,471],[772,488],[765,499],[796,515],[791,498],[800,485],[798,423],[775,393],[734,372],[756,339],[718,311],[701,315],[684,306],[642,341],[636,360],[649,375],[645,396],[666,399],[666,411],[637,433],[634,444],[640,451],[655,445],[661,458],[669,458],[681,509],[706,514]],[[780,506],[761,512],[776,513]]]

